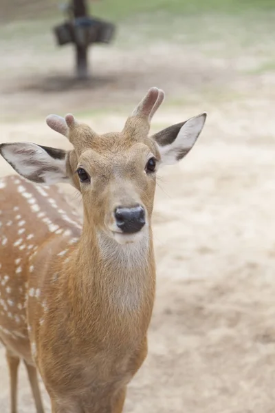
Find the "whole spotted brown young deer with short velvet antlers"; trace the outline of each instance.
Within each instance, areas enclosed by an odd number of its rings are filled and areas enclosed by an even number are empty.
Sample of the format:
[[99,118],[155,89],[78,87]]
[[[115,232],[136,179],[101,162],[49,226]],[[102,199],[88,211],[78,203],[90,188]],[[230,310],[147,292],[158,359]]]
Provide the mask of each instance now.
[[[155,297],[151,215],[156,171],[190,151],[206,114],[148,137],[164,99],[151,88],[120,133],[97,135],[72,114],[47,117],[64,151],[30,142],[0,145],[23,178],[0,180],[0,337],[17,412],[17,369],[28,370],[43,412],[36,368],[53,413],[121,413],[142,365]],[[30,183],[28,181],[32,181]],[[83,200],[83,226],[57,187]]]

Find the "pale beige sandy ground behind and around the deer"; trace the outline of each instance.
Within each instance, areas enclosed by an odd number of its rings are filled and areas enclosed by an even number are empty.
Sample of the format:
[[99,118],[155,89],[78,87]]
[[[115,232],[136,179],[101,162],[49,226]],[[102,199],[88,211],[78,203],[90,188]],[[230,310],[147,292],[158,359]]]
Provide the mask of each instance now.
[[[221,48],[220,41],[214,45]],[[167,93],[154,130],[203,110],[209,114],[192,152],[180,165],[160,172],[153,225],[157,299],[148,357],[129,385],[126,413],[275,411],[275,74],[239,70],[259,62],[257,44],[245,56],[234,50],[219,59],[204,53],[208,46],[151,45],[146,63],[138,69],[140,50],[128,51],[131,59],[128,54],[126,63],[124,51],[98,52],[94,59],[104,76],[113,72],[111,83],[94,89],[89,84],[67,90],[58,78],[54,81],[60,89],[49,89],[43,69],[34,80],[19,70],[18,59],[24,67],[33,50],[19,47],[16,57],[5,56],[5,63],[13,65],[8,81],[1,84],[3,113],[9,118],[1,125],[1,142],[32,140],[67,147],[43,123],[48,113],[74,112],[76,107],[85,112],[97,102],[100,107],[126,105],[138,101],[151,85]],[[171,49],[182,56],[173,64],[167,59]],[[64,62],[69,65],[69,53],[65,61],[56,56],[52,61],[47,56],[47,70],[52,65],[59,73]],[[107,70],[104,63],[110,56],[113,65]],[[44,67],[46,57],[41,59]],[[43,79],[46,89],[30,89]],[[213,95],[200,92],[206,84]],[[217,94],[223,86],[225,98]],[[169,99],[179,94],[184,100],[171,107]],[[98,131],[118,130],[131,109],[122,109],[123,116],[109,111],[80,118]],[[0,176],[10,171],[0,160]],[[74,191],[65,190],[80,209]],[[23,368],[20,373],[19,413],[31,413],[34,405]],[[8,413],[3,348],[0,384],[0,412]]]

